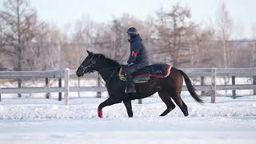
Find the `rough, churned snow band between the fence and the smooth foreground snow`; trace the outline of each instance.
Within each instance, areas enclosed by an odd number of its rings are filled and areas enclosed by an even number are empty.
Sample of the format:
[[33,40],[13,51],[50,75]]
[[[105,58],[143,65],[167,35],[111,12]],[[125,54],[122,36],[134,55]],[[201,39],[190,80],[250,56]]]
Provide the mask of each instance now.
[[[255,100],[254,100],[255,98]],[[183,98],[188,106],[190,117],[254,117],[256,116],[256,97],[217,98],[217,103],[200,105],[191,97]],[[222,101],[220,101],[220,99]],[[47,120],[47,119],[84,119],[96,118],[98,105],[106,98],[73,98],[70,106],[64,106],[57,99],[42,98],[9,98],[3,99],[0,105],[0,120]],[[158,118],[166,110],[160,98],[143,99],[143,105],[133,102],[135,118]],[[103,109],[105,118],[126,118],[126,108],[122,103],[107,106]],[[182,111],[176,106],[167,117],[182,117]]]

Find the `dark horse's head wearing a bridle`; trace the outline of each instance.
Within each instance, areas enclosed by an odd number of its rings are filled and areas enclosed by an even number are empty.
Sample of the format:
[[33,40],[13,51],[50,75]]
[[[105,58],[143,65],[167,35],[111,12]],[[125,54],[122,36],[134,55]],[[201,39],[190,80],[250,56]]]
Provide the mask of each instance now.
[[95,70],[99,70],[101,67],[100,55],[93,54],[92,52],[86,50],[88,56],[82,62],[82,64],[78,67],[77,75],[81,77],[83,74],[94,72]]

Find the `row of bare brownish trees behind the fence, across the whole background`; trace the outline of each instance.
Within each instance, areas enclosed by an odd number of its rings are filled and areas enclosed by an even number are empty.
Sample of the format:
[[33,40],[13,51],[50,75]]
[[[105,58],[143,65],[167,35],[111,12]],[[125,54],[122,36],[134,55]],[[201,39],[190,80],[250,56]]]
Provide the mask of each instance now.
[[130,44],[126,30],[138,28],[150,63],[177,67],[255,67],[255,40],[230,41],[232,20],[225,3],[218,26],[199,26],[190,8],[179,3],[142,21],[130,14],[110,23],[81,18],[74,30],[60,30],[38,19],[28,0],[6,0],[0,10],[0,70],[77,69],[86,49],[125,64]]

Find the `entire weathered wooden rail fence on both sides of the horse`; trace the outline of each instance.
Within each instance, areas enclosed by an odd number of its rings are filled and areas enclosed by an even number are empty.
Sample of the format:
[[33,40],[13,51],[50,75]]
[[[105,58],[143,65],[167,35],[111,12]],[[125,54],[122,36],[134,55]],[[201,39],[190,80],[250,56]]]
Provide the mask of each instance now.
[[[210,91],[211,102],[215,102],[216,91],[218,90],[233,90],[233,97],[236,98],[235,90],[254,90],[256,95],[256,68],[240,68],[240,69],[182,69],[190,78],[200,78],[201,84],[194,86],[196,90]],[[58,93],[58,100],[62,100],[62,93],[64,93],[64,103],[68,105],[69,92],[95,91],[97,97],[101,97],[101,93],[106,91],[106,87],[100,86],[100,77],[98,74],[85,74],[86,78],[97,78],[98,86],[70,86],[70,78],[77,78],[75,70],[54,70],[54,71],[0,71],[0,79],[30,79],[30,78],[44,78],[46,85],[43,87],[18,87],[18,88],[1,88],[0,87],[0,101],[1,94],[27,94],[27,93],[46,93],[49,98],[50,93]],[[50,78],[58,78],[58,87],[51,87],[49,85]],[[205,84],[205,78],[210,78],[210,85]],[[216,78],[232,78],[232,85],[217,85]],[[237,85],[236,78],[253,78],[252,84]],[[64,86],[62,86],[64,80]],[[79,80],[79,79],[78,79]],[[186,86],[183,86],[184,91],[187,91]],[[142,103],[140,100],[139,103]]]

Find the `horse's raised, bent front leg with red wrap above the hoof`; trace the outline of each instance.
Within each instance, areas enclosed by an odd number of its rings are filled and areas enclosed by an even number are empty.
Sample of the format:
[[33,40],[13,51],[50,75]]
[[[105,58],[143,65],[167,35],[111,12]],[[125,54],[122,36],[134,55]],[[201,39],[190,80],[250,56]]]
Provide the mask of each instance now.
[[105,106],[111,106],[114,105],[115,103],[120,103],[122,102],[121,98],[118,97],[114,97],[114,96],[110,96],[110,98],[107,98],[106,101],[102,102],[99,106],[98,106],[98,117],[102,118],[103,114],[102,114],[102,109]]

